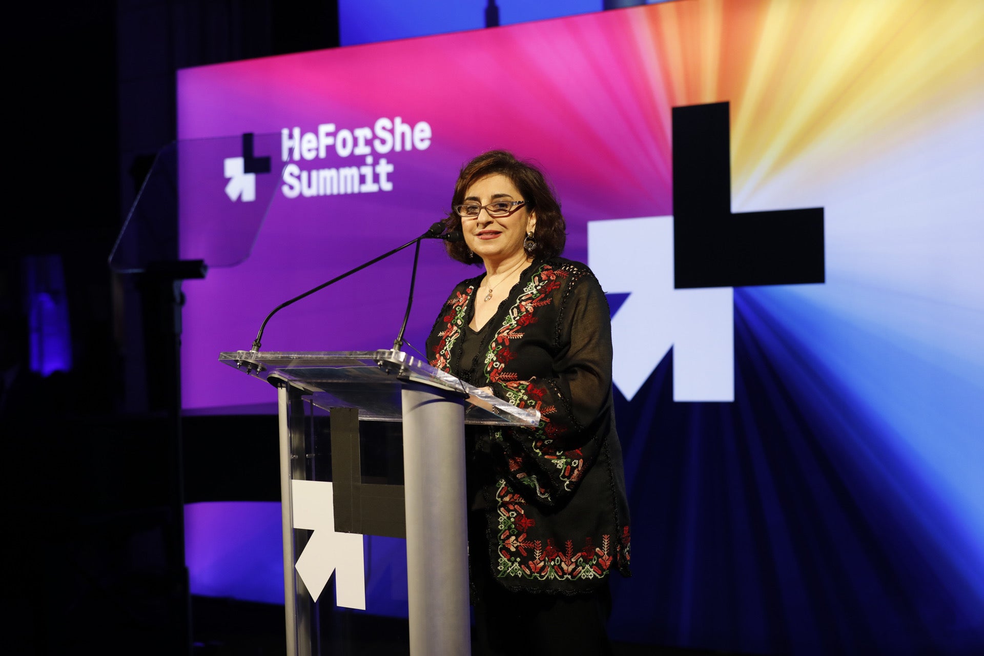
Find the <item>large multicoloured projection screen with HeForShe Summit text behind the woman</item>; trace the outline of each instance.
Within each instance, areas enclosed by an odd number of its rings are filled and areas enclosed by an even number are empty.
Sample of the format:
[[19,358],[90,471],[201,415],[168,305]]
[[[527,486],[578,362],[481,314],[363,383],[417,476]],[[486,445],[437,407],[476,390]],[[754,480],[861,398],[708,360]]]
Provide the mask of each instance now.
[[[219,351],[424,232],[463,162],[510,149],[549,174],[565,256],[613,310],[636,571],[613,631],[769,653],[979,645],[982,34],[970,0],[681,0],[180,71],[181,256],[211,265],[183,286],[183,407],[273,411]],[[714,103],[725,141],[687,154],[727,153],[730,184],[692,175],[676,205],[820,211],[819,279],[675,279],[674,108]],[[477,272],[439,241],[421,257],[417,348]],[[287,308],[263,348],[390,347],[411,258]]]

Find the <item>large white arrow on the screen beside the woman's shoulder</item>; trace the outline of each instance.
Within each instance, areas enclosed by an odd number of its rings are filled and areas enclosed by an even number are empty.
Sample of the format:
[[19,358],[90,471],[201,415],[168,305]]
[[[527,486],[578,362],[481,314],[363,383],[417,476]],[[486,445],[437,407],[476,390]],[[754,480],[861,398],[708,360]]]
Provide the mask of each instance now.
[[588,266],[629,293],[612,318],[612,379],[632,399],[673,348],[674,401],[734,400],[731,287],[673,288],[673,217],[587,223]]

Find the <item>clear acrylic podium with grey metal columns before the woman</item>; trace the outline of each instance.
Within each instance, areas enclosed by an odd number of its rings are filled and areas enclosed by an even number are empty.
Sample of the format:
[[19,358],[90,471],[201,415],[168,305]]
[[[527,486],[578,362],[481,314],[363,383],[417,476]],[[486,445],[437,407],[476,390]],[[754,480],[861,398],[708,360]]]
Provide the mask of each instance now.
[[[335,530],[405,535],[410,653],[470,653],[464,424],[535,427],[539,412],[395,350],[235,351],[219,361],[277,387],[287,654],[310,656],[317,643],[311,596],[295,571],[309,531],[294,528],[291,493],[311,470],[305,403],[330,414]],[[361,481],[358,420],[402,423],[401,488]],[[441,567],[428,559],[435,539],[449,555]]]

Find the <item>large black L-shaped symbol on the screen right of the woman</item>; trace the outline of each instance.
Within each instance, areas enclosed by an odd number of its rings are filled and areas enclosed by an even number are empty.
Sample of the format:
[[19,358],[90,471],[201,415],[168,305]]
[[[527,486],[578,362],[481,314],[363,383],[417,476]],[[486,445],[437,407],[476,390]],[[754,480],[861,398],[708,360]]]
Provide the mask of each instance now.
[[728,103],[673,108],[674,287],[824,282],[824,209],[731,212]]

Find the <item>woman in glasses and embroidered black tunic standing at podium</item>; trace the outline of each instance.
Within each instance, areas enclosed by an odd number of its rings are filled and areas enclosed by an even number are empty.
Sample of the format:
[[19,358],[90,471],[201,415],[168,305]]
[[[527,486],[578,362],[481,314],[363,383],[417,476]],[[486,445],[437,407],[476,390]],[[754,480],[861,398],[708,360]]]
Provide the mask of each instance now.
[[560,257],[565,222],[543,174],[503,150],[464,165],[449,255],[482,271],[451,292],[430,363],[541,413],[535,429],[469,426],[468,561],[489,654],[605,654],[609,577],[629,575],[608,304]]

